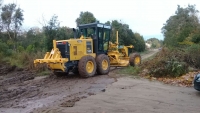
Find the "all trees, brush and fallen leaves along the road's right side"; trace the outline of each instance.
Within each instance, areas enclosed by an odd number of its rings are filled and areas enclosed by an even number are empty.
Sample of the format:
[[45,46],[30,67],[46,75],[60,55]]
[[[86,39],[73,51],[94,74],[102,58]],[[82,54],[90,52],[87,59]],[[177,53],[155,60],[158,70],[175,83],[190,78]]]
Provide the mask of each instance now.
[[[163,47],[151,60],[138,67],[140,76],[165,83],[191,86],[200,69],[200,23],[195,5],[177,6],[175,14],[162,27]],[[146,41],[158,48],[159,40]],[[153,42],[153,43],[152,43]],[[125,69],[128,72],[128,68]],[[135,71],[133,71],[135,72]],[[133,73],[130,72],[130,73]]]

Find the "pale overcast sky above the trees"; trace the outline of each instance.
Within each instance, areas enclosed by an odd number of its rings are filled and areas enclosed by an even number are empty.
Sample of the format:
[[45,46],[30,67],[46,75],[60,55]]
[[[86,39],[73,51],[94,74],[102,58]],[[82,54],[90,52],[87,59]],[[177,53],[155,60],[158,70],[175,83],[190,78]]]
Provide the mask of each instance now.
[[129,25],[145,39],[163,39],[161,28],[175,14],[177,5],[187,7],[200,0],[4,0],[16,3],[24,10],[23,29],[41,27],[42,18],[49,21],[55,14],[61,26],[76,27],[75,20],[81,11],[89,11],[101,22],[119,20]]

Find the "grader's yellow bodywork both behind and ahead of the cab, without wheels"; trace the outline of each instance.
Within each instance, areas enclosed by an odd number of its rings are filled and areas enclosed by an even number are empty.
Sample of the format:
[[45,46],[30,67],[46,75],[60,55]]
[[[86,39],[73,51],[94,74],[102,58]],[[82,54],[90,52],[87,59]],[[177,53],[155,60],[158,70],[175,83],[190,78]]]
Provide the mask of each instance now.
[[[93,51],[93,43],[92,39],[69,39],[69,40],[53,40],[53,49],[51,52],[47,52],[43,59],[36,59],[34,60],[34,64],[37,65],[38,63],[47,63],[50,69],[58,69],[65,71],[66,66],[64,65],[66,62],[69,61],[68,58],[62,58],[59,49],[56,46],[56,43],[63,43],[68,42],[70,44],[70,60],[80,60],[81,57],[88,55],[86,51]],[[91,50],[90,48],[86,48],[86,42],[91,43]],[[118,31],[116,33],[116,43],[109,42],[108,46],[108,57],[110,60],[110,66],[128,66],[130,57],[128,56],[128,48],[133,48],[134,46],[119,46],[118,43]],[[88,50],[87,50],[88,49]],[[96,57],[95,53],[89,54]]]

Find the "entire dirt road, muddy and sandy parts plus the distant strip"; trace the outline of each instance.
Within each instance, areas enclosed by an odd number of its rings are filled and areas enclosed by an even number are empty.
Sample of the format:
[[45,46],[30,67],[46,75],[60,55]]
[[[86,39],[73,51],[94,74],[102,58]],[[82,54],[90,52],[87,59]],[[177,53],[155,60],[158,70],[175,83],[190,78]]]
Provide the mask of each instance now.
[[[154,53],[156,51],[142,58]],[[193,88],[145,79],[116,78],[119,76],[116,70],[87,79],[73,74],[58,78],[53,75],[35,77],[32,72],[0,65],[0,113],[199,111],[200,94]]]

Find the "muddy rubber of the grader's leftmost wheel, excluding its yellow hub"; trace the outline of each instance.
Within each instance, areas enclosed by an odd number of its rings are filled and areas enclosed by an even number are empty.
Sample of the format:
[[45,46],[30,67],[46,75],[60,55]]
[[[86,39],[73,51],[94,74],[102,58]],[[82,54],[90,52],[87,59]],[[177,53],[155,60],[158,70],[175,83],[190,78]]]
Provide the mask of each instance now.
[[[91,73],[88,73],[86,69],[87,68],[86,64],[88,61],[92,61],[94,64],[94,70]],[[80,76],[84,78],[94,76],[96,72],[96,62],[95,62],[94,57],[90,55],[83,56],[78,63],[78,71],[79,71]]]

